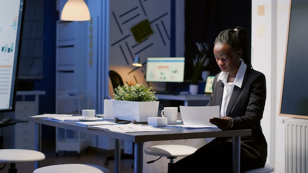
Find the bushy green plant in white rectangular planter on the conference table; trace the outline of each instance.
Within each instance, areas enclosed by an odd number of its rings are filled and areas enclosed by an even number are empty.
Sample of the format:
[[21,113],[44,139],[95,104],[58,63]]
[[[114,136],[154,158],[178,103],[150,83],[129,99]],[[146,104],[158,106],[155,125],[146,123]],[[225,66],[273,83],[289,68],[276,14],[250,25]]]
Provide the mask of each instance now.
[[144,84],[123,85],[115,88],[113,101],[114,117],[122,120],[147,122],[157,116],[159,101],[153,87]]

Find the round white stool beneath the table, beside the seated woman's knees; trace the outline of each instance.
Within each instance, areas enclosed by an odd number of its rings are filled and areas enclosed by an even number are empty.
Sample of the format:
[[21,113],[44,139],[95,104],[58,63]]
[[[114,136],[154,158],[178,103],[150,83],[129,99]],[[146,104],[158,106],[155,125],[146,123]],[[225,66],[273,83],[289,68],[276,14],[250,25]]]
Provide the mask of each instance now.
[[[174,163],[174,159],[179,156],[187,156],[194,153],[197,148],[188,146],[188,145],[179,145],[179,144],[163,144],[163,145],[153,145],[144,149],[144,152],[154,156],[167,157],[170,159],[168,163],[168,172],[172,164]],[[156,160],[158,160],[156,159]],[[147,163],[153,163],[156,160],[149,161]]]

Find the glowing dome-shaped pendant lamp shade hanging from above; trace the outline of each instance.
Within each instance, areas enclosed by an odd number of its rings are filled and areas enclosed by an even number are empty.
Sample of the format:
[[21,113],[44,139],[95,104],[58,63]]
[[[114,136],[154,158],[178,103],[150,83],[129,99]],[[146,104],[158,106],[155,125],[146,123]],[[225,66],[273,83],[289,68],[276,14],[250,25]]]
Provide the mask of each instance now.
[[89,21],[90,11],[84,0],[67,0],[62,13],[62,21]]

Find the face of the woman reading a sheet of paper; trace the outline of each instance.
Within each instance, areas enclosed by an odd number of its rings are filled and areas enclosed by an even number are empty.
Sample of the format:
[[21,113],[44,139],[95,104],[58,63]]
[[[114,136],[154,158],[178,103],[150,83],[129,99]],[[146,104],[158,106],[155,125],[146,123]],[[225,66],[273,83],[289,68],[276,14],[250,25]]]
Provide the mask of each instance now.
[[216,63],[223,72],[236,75],[240,67],[239,57],[242,51],[235,51],[229,44],[216,43],[214,46],[214,56]]

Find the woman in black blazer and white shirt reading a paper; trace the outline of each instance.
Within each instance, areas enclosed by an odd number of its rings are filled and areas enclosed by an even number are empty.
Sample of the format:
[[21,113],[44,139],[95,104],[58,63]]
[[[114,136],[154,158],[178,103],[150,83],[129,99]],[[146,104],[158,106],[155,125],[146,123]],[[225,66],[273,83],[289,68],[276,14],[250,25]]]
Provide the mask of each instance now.
[[[266,100],[266,81],[252,69],[246,29],[226,29],[215,39],[214,56],[221,72],[215,76],[208,106],[220,106],[210,122],[221,130],[252,129],[241,138],[241,172],[262,168],[267,143],[260,120]],[[232,138],[216,138],[176,162],[172,173],[232,173]]]

